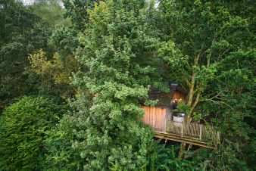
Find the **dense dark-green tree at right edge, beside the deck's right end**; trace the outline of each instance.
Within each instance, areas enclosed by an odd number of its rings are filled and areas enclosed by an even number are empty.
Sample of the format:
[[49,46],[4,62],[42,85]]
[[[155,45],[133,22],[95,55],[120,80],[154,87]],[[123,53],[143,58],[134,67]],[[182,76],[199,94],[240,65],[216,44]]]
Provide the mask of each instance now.
[[198,155],[211,159],[209,169],[255,169],[255,62],[255,51],[237,51],[217,66],[217,77],[200,111],[208,113],[211,122],[225,132],[218,151]]

